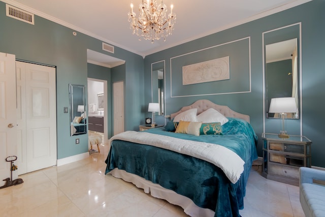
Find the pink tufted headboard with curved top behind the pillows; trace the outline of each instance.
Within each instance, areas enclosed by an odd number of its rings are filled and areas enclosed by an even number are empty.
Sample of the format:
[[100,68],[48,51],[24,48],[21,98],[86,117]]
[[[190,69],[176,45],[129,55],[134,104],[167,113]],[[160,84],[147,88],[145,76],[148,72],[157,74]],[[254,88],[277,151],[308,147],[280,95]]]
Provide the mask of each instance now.
[[235,111],[231,110],[228,106],[220,106],[220,105],[214,104],[213,102],[211,102],[209,100],[198,100],[198,101],[194,102],[192,105],[184,106],[178,112],[172,113],[171,118],[173,119],[177,114],[179,114],[183,111],[186,111],[188,109],[192,109],[192,108],[198,109],[197,114],[200,114],[209,108],[214,108],[215,110],[220,112],[225,117],[237,117],[237,118],[241,118],[241,119],[249,122],[249,115],[235,112]]

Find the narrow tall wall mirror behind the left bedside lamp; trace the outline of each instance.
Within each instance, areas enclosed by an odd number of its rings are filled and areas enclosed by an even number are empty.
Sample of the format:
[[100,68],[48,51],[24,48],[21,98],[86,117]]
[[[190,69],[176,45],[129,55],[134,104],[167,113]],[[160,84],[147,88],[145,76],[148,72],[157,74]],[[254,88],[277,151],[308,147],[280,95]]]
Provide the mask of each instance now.
[[159,103],[157,115],[165,115],[165,60],[151,64],[151,102]]

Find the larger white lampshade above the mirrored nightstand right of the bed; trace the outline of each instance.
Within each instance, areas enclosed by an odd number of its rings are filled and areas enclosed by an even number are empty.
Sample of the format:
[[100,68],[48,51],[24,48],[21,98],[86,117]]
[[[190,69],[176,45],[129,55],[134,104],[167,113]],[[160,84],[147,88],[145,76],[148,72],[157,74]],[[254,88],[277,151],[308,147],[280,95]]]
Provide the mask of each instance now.
[[294,113],[297,112],[296,99],[294,97],[273,98],[270,104],[270,113]]

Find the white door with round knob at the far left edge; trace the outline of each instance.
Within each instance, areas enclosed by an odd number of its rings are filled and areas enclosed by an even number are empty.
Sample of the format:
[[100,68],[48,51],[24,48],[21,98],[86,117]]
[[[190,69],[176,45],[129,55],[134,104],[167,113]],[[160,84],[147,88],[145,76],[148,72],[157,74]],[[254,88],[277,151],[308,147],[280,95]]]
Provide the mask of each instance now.
[[[0,186],[10,177],[11,165],[5,159],[17,155],[15,80],[15,55],[0,53]],[[17,177],[17,170],[13,171],[12,179]]]

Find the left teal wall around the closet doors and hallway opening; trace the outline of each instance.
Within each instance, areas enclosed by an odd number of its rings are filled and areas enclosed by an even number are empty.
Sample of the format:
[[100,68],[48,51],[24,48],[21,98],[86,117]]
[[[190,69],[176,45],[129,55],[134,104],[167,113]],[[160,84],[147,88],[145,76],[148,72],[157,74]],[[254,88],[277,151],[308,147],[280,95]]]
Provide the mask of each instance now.
[[[87,85],[87,49],[126,61],[122,72],[127,85],[124,92],[126,112],[133,111],[137,115],[127,115],[125,129],[139,126],[144,116],[140,109],[144,104],[142,56],[118,47],[114,54],[103,51],[102,41],[79,32],[74,36],[75,30],[39,16],[35,16],[35,25],[7,17],[3,2],[0,2],[0,29],[0,52],[15,54],[17,59],[56,66],[58,159],[88,151],[88,134],[70,136],[69,113],[63,113],[63,107],[69,107],[69,83]],[[80,139],[78,145],[76,138]]]

